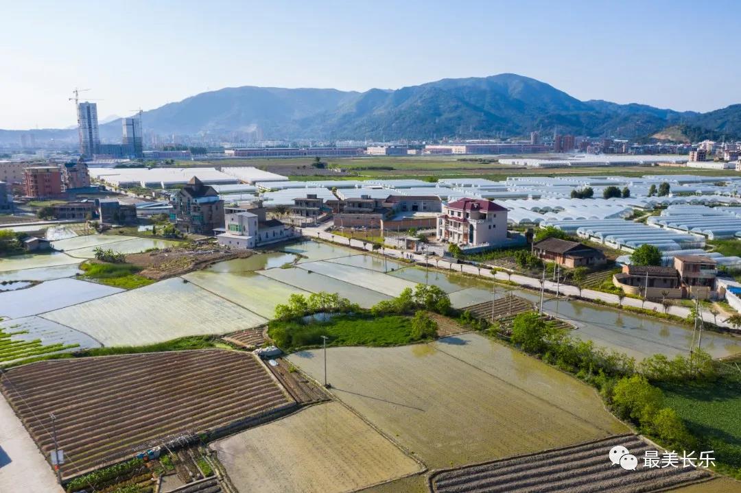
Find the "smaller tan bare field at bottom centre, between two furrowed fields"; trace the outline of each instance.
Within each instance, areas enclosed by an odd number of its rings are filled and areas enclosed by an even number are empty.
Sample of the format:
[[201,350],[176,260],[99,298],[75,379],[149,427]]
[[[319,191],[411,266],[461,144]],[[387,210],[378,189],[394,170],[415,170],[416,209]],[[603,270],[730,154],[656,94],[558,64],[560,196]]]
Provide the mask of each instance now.
[[211,445],[240,492],[351,492],[422,470],[341,403],[317,404]]

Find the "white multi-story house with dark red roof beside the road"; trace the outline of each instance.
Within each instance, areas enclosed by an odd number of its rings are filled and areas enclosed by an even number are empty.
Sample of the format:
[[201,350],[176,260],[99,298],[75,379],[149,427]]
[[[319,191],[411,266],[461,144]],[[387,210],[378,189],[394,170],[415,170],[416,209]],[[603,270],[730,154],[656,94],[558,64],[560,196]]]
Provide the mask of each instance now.
[[458,246],[504,244],[507,209],[480,198],[459,198],[442,206],[437,217],[437,239]]

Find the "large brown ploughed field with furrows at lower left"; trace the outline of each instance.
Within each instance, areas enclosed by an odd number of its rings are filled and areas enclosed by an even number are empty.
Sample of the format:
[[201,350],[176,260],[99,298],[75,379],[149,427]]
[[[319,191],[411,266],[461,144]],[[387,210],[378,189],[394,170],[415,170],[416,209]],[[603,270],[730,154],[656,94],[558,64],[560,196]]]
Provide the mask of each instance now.
[[293,404],[252,355],[213,349],[31,363],[0,392],[44,455],[55,415],[65,477]]

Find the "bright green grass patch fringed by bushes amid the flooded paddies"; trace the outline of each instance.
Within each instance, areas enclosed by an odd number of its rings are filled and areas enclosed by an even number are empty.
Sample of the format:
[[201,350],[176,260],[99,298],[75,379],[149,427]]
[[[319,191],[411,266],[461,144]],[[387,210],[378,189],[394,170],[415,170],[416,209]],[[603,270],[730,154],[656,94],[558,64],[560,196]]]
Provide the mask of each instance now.
[[329,321],[273,321],[268,335],[285,351],[322,346],[399,346],[416,342],[411,318],[403,315],[340,315]]

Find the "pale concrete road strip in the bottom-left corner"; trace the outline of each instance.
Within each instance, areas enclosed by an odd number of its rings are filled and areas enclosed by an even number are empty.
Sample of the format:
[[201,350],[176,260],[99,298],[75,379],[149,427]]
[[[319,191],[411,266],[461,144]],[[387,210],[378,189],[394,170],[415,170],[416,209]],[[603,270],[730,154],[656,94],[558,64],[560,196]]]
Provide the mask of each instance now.
[[0,395],[0,492],[63,493],[21,420]]

